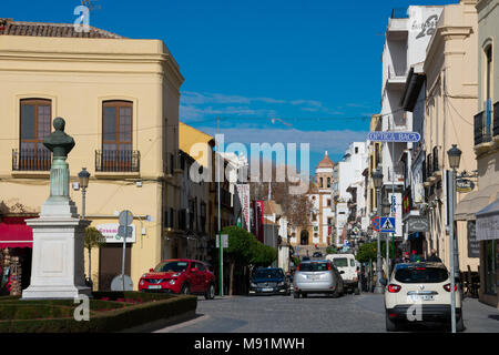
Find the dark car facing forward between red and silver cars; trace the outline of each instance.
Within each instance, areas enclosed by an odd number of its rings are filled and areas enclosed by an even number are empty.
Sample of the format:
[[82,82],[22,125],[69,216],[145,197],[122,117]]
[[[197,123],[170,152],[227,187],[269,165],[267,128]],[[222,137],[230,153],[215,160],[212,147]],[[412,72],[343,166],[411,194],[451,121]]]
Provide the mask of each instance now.
[[249,282],[249,295],[289,295],[289,282],[281,267],[258,268]]

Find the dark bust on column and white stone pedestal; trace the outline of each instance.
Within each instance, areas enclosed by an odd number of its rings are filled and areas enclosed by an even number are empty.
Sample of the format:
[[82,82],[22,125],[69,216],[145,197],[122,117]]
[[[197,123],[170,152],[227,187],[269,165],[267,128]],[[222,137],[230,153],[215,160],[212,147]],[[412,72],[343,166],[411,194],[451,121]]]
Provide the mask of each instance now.
[[64,133],[65,121],[53,121],[55,132],[43,140],[52,153],[50,196],[41,206],[40,217],[27,221],[33,230],[31,283],[23,300],[67,300],[91,295],[84,280],[84,231],[90,221],[80,220],[69,196],[68,153],[74,140]]

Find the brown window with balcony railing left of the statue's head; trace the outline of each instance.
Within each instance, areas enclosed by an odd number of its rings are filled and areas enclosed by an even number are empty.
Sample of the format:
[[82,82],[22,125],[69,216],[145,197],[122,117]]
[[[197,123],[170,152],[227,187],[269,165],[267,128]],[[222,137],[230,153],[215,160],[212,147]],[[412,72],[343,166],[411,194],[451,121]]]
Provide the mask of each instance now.
[[50,134],[51,104],[50,100],[21,100],[20,170],[50,169],[50,151],[43,145],[43,139]]

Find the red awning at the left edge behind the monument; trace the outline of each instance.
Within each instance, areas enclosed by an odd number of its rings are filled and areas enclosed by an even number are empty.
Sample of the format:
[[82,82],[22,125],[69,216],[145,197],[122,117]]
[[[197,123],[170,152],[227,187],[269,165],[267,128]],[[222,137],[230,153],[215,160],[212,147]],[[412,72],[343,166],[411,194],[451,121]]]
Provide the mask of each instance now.
[[33,247],[33,230],[24,222],[29,217],[2,217],[0,247]]

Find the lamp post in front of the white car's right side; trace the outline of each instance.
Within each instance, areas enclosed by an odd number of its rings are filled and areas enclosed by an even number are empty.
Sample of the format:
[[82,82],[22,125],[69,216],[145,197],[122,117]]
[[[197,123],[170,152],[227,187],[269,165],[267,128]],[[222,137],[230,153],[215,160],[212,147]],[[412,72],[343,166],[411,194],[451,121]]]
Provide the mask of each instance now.
[[[456,333],[456,265],[455,265],[455,235],[454,235],[454,212],[456,205],[456,170],[459,168],[459,162],[461,160],[461,151],[456,144],[447,151],[449,156],[450,171],[450,199],[449,199],[449,264],[450,264],[450,323],[452,333]],[[458,265],[459,267],[459,265]]]

